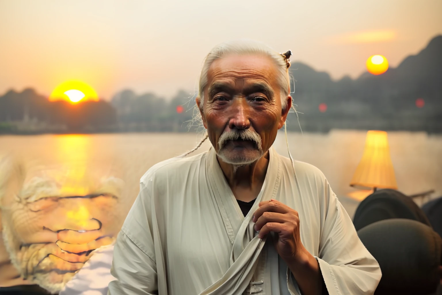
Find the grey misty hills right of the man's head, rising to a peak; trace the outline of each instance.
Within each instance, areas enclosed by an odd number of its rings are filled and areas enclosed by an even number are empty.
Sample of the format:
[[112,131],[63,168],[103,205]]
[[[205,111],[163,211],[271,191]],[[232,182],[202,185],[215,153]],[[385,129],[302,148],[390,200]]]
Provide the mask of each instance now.
[[[442,36],[419,54],[409,56],[397,68],[381,75],[362,74],[352,80],[331,80],[324,72],[295,62],[293,101],[304,130],[331,128],[425,130],[442,132]],[[422,98],[425,105],[416,107]],[[320,103],[327,111],[320,112]],[[299,129],[290,115],[290,129]]]

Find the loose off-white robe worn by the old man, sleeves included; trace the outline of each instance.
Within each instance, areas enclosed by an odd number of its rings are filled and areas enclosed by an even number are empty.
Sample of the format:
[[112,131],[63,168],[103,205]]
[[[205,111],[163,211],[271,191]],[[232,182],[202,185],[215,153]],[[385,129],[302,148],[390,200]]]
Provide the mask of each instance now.
[[301,294],[273,235],[266,242],[253,229],[259,202],[272,198],[298,212],[302,244],[329,294],[373,294],[379,265],[324,174],[303,162],[294,167],[296,175],[271,148],[263,188],[244,217],[213,148],[154,165],[118,234],[109,294]]

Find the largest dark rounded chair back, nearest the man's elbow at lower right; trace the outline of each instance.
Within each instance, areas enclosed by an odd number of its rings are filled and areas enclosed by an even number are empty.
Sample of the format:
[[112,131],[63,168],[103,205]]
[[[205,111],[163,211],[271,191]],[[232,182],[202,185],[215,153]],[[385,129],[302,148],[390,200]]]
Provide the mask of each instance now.
[[436,291],[442,239],[430,226],[410,219],[385,219],[358,230],[358,236],[381,267],[375,295]]

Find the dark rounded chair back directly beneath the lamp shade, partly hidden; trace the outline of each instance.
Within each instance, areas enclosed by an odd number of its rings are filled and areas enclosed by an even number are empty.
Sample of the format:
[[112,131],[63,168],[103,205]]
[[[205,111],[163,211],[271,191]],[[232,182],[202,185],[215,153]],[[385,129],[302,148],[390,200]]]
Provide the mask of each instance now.
[[356,230],[389,218],[407,218],[431,226],[422,209],[407,195],[393,189],[381,189],[364,199],[356,209],[353,224]]

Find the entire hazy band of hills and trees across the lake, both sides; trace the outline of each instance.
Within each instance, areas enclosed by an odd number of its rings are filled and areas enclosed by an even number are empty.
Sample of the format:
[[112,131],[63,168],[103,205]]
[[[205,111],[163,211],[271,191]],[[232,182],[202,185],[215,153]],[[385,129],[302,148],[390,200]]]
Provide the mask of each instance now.
[[[358,79],[335,81],[301,62],[293,62],[290,74],[302,130],[442,132],[442,36],[378,76],[363,73]],[[416,106],[419,98],[423,107]],[[187,131],[194,103],[185,91],[167,101],[154,93],[137,95],[127,89],[110,103],[101,100],[72,106],[49,102],[33,89],[11,90],[0,96],[0,133]],[[299,130],[294,113],[289,114],[288,128]]]

